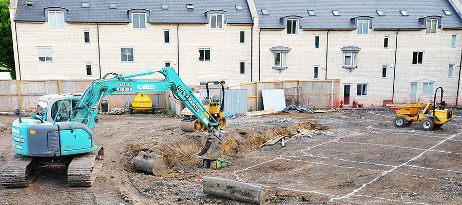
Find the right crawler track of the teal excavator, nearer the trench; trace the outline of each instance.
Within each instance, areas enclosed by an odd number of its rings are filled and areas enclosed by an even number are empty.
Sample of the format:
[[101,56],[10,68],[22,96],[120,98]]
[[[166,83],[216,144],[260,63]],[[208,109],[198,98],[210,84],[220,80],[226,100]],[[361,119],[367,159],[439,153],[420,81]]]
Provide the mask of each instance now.
[[104,148],[97,152],[76,155],[67,168],[69,186],[92,186],[103,167]]

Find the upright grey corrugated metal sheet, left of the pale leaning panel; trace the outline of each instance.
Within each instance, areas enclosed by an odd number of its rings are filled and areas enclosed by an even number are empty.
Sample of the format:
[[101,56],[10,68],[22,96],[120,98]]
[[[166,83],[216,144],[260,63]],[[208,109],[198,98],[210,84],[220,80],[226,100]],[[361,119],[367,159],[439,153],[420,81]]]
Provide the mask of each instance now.
[[247,89],[225,89],[223,112],[244,114],[247,111]]

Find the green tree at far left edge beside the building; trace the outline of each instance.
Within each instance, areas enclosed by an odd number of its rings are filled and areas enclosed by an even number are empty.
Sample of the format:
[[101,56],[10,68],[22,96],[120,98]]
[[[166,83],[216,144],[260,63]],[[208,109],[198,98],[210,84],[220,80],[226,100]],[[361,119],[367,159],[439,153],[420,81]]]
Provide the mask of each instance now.
[[10,71],[11,77],[16,79],[9,6],[9,0],[0,0],[0,67]]

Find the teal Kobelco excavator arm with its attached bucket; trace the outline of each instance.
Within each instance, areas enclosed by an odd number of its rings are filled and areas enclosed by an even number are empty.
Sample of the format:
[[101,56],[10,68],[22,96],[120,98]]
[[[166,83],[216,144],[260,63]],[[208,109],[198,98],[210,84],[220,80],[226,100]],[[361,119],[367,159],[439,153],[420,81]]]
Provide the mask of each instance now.
[[[129,79],[157,72],[163,74],[165,80]],[[108,75],[114,75],[114,77],[106,79]],[[108,73],[103,78],[94,80],[83,92],[81,100],[79,100],[79,103],[75,107],[73,118],[85,120],[89,116],[96,116],[101,99],[107,95],[166,90],[171,90],[175,98],[180,100],[210,132],[205,146],[198,155],[206,159],[217,159],[221,155],[220,141],[222,140],[222,134],[220,132],[220,124],[213,117],[208,118],[210,114],[206,108],[192,94],[192,90],[183,83],[172,67],[165,67],[159,71],[149,70],[133,74]],[[93,109],[82,109],[85,107]],[[90,127],[93,126],[93,121],[87,120],[82,121],[82,123]]]

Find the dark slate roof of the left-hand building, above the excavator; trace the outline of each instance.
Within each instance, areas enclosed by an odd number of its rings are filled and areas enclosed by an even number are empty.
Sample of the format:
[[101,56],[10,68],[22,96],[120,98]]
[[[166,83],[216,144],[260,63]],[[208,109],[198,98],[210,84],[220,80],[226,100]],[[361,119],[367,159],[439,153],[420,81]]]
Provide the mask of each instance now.
[[[75,23],[129,23],[128,10],[149,10],[149,23],[199,23],[207,24],[205,12],[225,10],[228,24],[253,24],[246,0],[84,0],[90,8],[82,8],[82,1],[75,0],[34,0],[33,7],[26,6],[25,0],[18,0],[15,21],[45,22],[47,7],[68,9],[66,22]],[[110,9],[109,2],[116,2],[117,9]],[[161,3],[168,3],[168,10],[161,9]],[[186,4],[193,4],[194,10],[187,10]],[[241,4],[243,10],[236,10]]]

